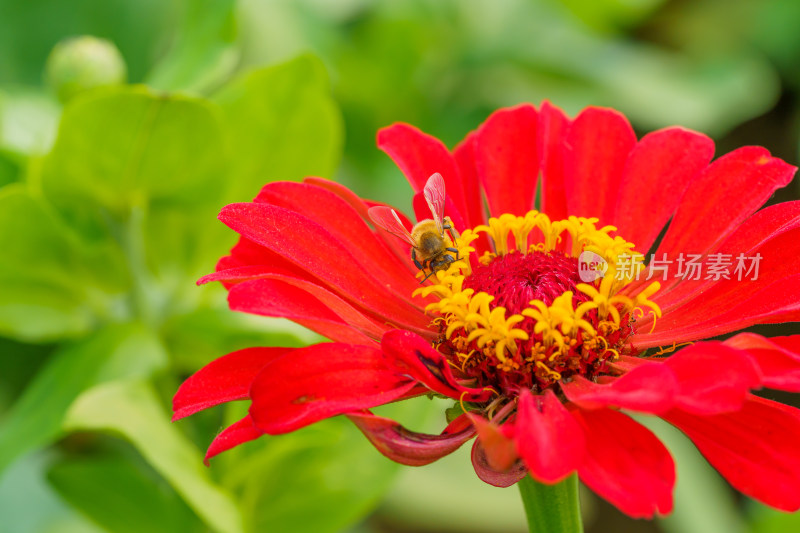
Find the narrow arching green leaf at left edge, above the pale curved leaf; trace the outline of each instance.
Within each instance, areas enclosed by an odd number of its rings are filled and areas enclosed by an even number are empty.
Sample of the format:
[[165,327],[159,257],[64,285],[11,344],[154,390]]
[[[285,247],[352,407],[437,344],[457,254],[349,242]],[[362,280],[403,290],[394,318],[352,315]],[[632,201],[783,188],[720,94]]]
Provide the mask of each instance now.
[[159,341],[137,324],[109,326],[57,351],[0,422],[0,472],[58,437],[67,409],[81,392],[122,374],[149,375],[165,361]]

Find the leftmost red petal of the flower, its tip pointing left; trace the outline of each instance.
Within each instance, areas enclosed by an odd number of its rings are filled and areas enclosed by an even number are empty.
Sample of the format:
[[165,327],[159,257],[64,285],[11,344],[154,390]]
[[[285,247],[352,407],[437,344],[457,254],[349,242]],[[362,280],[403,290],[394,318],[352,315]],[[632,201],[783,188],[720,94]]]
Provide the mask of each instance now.
[[246,348],[211,361],[178,388],[172,399],[172,420],[248,398],[250,385],[261,369],[292,351],[294,348]]

